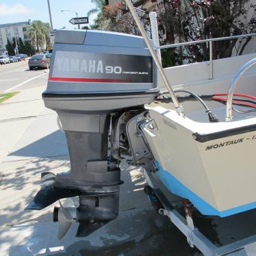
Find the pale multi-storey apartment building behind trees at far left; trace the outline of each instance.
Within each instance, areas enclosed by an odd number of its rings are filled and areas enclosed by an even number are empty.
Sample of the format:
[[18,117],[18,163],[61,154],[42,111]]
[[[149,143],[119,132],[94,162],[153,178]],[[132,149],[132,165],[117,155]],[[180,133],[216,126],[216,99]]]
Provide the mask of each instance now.
[[18,23],[0,24],[0,55],[7,53],[5,45],[7,40],[12,38],[21,38],[23,41],[29,40],[27,31],[29,31],[31,21],[23,21]]

